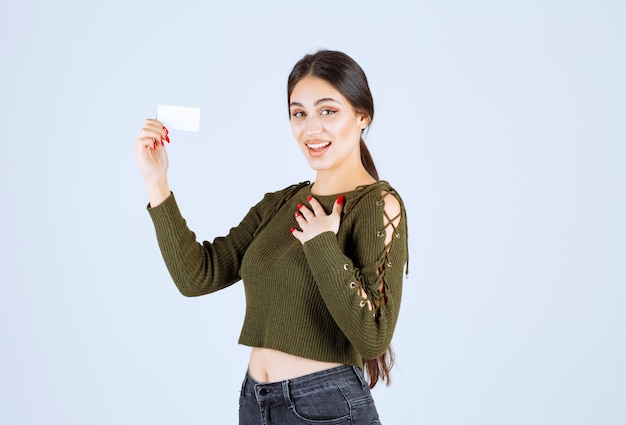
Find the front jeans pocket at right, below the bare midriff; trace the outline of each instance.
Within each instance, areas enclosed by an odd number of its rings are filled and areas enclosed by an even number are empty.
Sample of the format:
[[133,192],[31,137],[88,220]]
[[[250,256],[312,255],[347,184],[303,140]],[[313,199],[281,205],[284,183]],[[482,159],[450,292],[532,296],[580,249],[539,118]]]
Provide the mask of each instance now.
[[328,387],[292,399],[294,415],[306,424],[350,423],[350,404],[339,387]]

